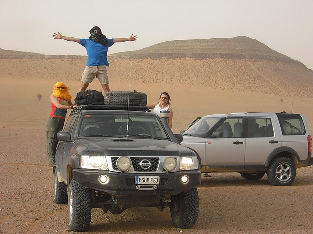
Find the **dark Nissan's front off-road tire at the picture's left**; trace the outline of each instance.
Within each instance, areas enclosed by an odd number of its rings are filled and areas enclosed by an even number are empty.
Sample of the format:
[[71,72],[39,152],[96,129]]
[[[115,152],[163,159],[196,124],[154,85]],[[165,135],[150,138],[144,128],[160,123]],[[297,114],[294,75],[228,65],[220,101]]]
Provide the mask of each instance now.
[[71,180],[68,189],[68,222],[72,231],[84,232],[91,222],[91,197],[88,188]]

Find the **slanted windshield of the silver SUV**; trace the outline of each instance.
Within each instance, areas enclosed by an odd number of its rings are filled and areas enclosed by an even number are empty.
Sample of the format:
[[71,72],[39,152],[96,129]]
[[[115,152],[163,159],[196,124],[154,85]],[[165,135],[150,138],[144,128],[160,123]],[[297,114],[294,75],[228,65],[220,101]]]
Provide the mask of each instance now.
[[195,124],[191,125],[185,132],[184,135],[191,135],[202,137],[205,135],[211,127],[213,127],[220,118],[201,118]]

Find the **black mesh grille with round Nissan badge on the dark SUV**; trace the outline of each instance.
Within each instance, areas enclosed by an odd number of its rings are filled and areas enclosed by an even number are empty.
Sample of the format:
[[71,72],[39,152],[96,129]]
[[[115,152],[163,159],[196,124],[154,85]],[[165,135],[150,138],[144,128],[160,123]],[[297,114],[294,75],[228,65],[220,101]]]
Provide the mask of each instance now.
[[[114,170],[118,170],[116,161],[118,157],[111,157],[111,162]],[[132,165],[135,172],[156,172],[159,164],[158,157],[131,157]],[[141,165],[140,163],[146,163]],[[150,165],[147,165],[147,163]]]

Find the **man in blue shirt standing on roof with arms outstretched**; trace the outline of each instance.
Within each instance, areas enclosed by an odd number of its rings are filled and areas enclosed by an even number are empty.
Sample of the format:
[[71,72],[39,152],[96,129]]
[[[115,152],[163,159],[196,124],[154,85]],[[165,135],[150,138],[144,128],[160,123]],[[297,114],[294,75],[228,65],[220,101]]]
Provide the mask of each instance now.
[[138,37],[132,34],[128,38],[107,38],[97,26],[91,28],[89,32],[89,39],[66,37],[62,36],[59,32],[53,33],[53,38],[74,41],[86,48],[88,56],[87,64],[82,75],[82,85],[78,92],[85,91],[94,77],[96,77],[99,79],[104,93],[106,93],[111,91],[106,69],[106,67],[109,66],[107,60],[108,48],[115,42],[136,41]]

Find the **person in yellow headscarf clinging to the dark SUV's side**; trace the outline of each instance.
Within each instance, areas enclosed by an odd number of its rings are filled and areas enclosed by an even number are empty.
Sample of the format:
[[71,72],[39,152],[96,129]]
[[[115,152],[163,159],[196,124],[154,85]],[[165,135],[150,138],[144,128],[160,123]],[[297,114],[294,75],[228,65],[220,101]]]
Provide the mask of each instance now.
[[57,133],[63,129],[67,110],[77,107],[77,105],[73,105],[72,96],[68,90],[69,88],[64,83],[57,82],[50,96],[51,112],[47,121],[47,156],[51,167],[55,166]]

